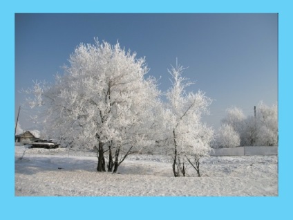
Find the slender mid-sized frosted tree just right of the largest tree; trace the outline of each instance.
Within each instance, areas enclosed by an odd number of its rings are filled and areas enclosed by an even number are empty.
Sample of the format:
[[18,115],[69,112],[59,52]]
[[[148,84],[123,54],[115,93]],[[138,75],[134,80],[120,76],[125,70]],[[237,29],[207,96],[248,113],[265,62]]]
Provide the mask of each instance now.
[[186,175],[187,164],[199,172],[199,159],[209,156],[213,131],[201,122],[202,113],[208,113],[211,99],[205,93],[187,93],[191,84],[182,77],[184,68],[178,66],[168,70],[172,76],[172,86],[167,91],[168,104],[164,109],[163,122],[166,131],[167,151],[172,156],[174,176]]

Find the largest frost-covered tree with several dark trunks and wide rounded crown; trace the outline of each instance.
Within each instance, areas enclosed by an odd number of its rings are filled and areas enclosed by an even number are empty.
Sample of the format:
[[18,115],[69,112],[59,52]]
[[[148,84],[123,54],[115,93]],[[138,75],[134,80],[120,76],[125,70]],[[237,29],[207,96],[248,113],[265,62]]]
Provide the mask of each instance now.
[[97,171],[117,171],[126,156],[149,144],[158,90],[144,58],[117,42],[80,44],[55,84],[36,82],[35,119],[68,147],[95,149]]

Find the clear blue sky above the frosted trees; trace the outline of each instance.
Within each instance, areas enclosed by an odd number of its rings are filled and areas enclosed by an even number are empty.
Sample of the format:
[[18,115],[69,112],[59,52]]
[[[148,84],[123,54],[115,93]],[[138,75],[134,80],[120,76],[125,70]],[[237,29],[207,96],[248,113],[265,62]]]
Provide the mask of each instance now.
[[[25,99],[21,89],[32,80],[53,82],[70,53],[94,37],[146,57],[149,75],[159,89],[170,86],[167,68],[189,67],[184,75],[196,82],[189,91],[213,99],[204,118],[217,128],[228,107],[252,115],[254,105],[278,100],[277,14],[16,14],[15,118]],[[28,109],[19,122],[32,129]]]

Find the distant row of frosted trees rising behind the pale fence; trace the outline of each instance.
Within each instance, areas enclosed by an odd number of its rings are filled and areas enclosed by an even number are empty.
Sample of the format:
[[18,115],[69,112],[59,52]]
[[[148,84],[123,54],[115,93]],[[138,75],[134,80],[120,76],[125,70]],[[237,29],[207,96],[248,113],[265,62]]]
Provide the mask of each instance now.
[[214,147],[278,146],[278,107],[263,102],[254,116],[245,117],[237,107],[227,109],[216,133]]

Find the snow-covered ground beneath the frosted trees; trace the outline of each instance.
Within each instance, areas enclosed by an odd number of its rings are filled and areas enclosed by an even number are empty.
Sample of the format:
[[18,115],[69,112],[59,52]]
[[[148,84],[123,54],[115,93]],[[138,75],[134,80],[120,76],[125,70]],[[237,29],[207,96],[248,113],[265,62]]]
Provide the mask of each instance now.
[[16,146],[15,196],[278,196],[278,156],[202,158],[201,177],[173,177],[164,156],[131,155],[117,174],[96,165],[94,152]]

